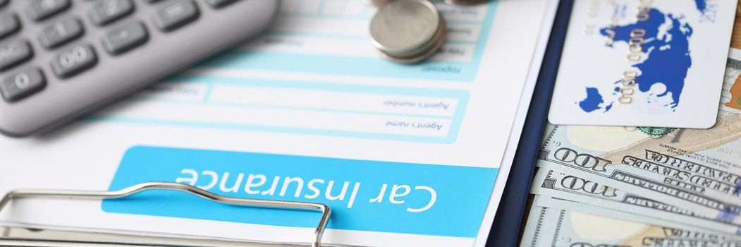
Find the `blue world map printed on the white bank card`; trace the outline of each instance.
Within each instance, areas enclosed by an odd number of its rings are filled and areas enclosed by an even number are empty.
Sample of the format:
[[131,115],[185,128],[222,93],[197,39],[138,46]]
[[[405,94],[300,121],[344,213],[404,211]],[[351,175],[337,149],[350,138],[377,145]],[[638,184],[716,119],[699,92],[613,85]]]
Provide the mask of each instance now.
[[[707,10],[706,1],[694,0],[700,13]],[[614,44],[620,42],[628,44],[633,30],[645,30],[644,42],[641,45],[641,55],[645,59],[631,65],[639,71],[639,75],[635,77],[639,92],[648,94],[648,100],[642,103],[658,104],[659,107],[674,111],[679,106],[679,98],[685,88],[685,79],[688,70],[692,67],[690,40],[693,28],[690,24],[682,22],[683,16],[663,13],[655,7],[648,11],[648,16],[648,19],[623,26],[602,27],[599,33],[606,37],[613,36],[614,42],[605,46],[612,49]],[[621,82],[622,79],[611,82],[614,85],[614,90],[611,92],[613,96],[617,96],[620,92]],[[651,90],[654,85],[658,84],[663,85],[659,88],[660,92],[656,89]],[[582,111],[588,113],[610,111],[614,102],[605,102],[605,97],[599,93],[598,88],[597,85],[585,88],[586,98],[577,102]]]

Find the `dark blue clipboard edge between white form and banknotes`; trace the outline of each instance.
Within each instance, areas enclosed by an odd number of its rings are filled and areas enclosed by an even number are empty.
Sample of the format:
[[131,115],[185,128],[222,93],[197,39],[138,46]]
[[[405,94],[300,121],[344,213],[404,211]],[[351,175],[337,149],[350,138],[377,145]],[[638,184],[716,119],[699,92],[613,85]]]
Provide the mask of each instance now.
[[523,213],[527,207],[528,194],[535,171],[535,162],[540,150],[540,140],[548,121],[548,108],[556,84],[561,52],[566,39],[568,21],[571,17],[573,0],[559,1],[551,36],[536,81],[528,116],[522,128],[510,175],[491,225],[486,246],[517,246]]

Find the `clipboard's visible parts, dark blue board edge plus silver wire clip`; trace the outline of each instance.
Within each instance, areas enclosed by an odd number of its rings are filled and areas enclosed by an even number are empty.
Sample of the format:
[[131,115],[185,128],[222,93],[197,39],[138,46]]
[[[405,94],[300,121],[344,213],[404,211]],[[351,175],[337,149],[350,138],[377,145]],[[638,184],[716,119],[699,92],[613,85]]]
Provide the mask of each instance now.
[[[542,66],[536,80],[536,87],[529,105],[527,119],[520,137],[516,156],[510,171],[499,210],[489,231],[486,246],[517,246],[519,244],[520,226],[523,215],[528,207],[528,194],[534,174],[536,154],[542,131],[548,116],[548,106],[554,88],[556,73],[559,67],[562,47],[565,41],[565,30],[571,16],[573,0],[559,1],[558,10],[551,29],[550,39],[543,57]],[[266,243],[253,240],[214,240],[214,239],[182,239],[170,237],[147,237],[125,234],[102,234],[82,231],[56,231],[50,229],[30,228],[3,228],[0,225],[0,246],[44,246],[44,247],[76,247],[76,246],[313,246],[322,245],[322,234],[330,219],[331,209],[328,205],[310,202],[293,202],[282,200],[254,200],[238,197],[222,197],[208,191],[173,182],[147,182],[124,188],[120,191],[60,191],[60,190],[19,190],[8,194],[0,200],[0,212],[7,207],[11,200],[26,197],[44,197],[71,200],[100,200],[127,197],[147,190],[185,191],[202,197],[205,200],[222,202],[227,205],[240,205],[259,208],[273,208],[284,210],[317,211],[322,218],[308,243]],[[234,202],[234,203],[232,203]],[[60,237],[63,236],[63,237]],[[74,238],[74,239],[73,239]],[[123,241],[119,241],[123,240]],[[307,237],[307,240],[309,238]],[[116,242],[113,242],[116,241]],[[326,246],[326,245],[324,245]]]

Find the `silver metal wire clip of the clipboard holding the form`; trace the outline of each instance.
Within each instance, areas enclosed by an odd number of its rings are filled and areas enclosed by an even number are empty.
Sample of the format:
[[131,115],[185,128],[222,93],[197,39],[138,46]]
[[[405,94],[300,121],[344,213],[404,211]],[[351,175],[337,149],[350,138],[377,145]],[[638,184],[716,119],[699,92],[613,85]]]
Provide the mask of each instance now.
[[[120,191],[71,191],[71,190],[43,190],[19,189],[11,191],[0,200],[0,213],[11,200],[20,198],[56,198],[67,200],[103,200],[128,197],[142,191],[165,190],[183,191],[202,197],[206,200],[220,202],[227,205],[240,205],[257,208],[279,208],[305,211],[319,211],[322,217],[313,234],[310,244],[302,243],[267,243],[256,241],[227,241],[227,240],[191,240],[180,238],[143,237],[124,234],[94,234],[76,231],[53,231],[27,228],[0,228],[0,246],[37,246],[37,247],[121,247],[121,246],[170,246],[170,247],[222,247],[222,246],[322,246],[322,234],[327,228],[331,210],[328,205],[312,202],[293,202],[283,200],[259,200],[237,197],[224,197],[218,194],[176,182],[144,182],[133,185]],[[1,225],[0,225],[1,226]],[[25,230],[25,231],[24,231]],[[41,232],[41,234],[23,234],[24,232]],[[46,234],[44,234],[46,231]],[[16,232],[20,232],[18,234]],[[33,236],[33,237],[30,237]],[[81,240],[74,240],[79,238]],[[87,239],[87,240],[82,240]],[[119,241],[119,240],[128,241]]]

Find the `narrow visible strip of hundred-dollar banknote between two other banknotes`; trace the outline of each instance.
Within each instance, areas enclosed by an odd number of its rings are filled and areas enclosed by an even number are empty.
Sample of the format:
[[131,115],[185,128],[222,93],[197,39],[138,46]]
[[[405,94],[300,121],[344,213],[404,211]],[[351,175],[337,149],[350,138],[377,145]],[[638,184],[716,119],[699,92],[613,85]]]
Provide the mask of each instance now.
[[556,197],[586,205],[640,214],[652,223],[691,225],[705,231],[737,234],[741,227],[722,220],[696,214],[677,205],[659,202],[617,188],[601,185],[588,178],[569,174],[568,171],[540,169],[533,180],[533,194]]

